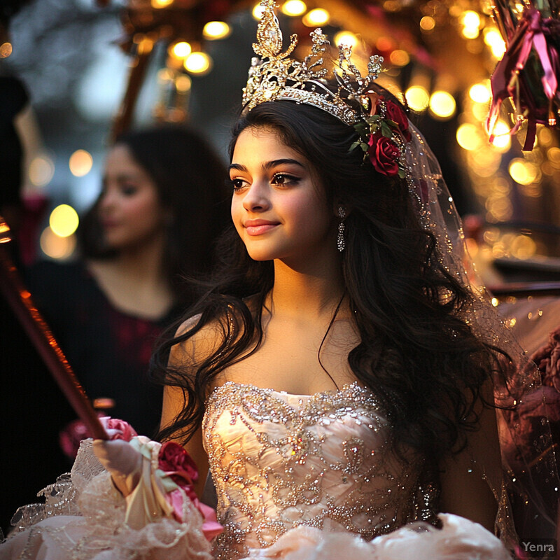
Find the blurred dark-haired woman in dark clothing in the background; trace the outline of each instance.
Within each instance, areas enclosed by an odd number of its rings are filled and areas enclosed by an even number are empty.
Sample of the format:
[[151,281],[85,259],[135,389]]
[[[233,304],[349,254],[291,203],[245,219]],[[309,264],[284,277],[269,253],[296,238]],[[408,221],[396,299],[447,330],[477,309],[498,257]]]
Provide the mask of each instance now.
[[221,160],[184,127],[129,132],[109,151],[102,192],[78,228],[80,258],[41,262],[29,290],[92,399],[154,435],[161,391],[147,379],[155,340],[194,295],[228,221]]

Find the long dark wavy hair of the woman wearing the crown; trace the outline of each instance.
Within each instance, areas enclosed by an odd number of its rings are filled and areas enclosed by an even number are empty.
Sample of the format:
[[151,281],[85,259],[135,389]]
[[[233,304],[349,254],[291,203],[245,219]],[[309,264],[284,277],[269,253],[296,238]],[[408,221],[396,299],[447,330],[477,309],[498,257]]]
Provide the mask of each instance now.
[[[351,209],[342,272],[361,342],[348,363],[356,379],[377,395],[395,442],[434,462],[462,448],[468,430],[477,427],[473,407],[482,398],[482,385],[498,367],[496,349],[477,339],[461,318],[472,295],[441,265],[406,182],[363,164],[360,150],[349,153],[357,139],[353,127],[312,106],[288,101],[256,106],[235,124],[230,152],[248,127],[279,134],[314,167],[330,207],[342,202]],[[202,422],[216,376],[262,341],[273,263],[251,260],[233,228],[221,243],[214,279],[188,311],[190,328],[162,344],[153,359],[155,377],[181,388],[185,397],[179,417],[159,434],[162,439],[188,441]],[[248,297],[253,311],[244,302]],[[214,352],[188,370],[167,367],[169,349],[210,322],[221,325]]]

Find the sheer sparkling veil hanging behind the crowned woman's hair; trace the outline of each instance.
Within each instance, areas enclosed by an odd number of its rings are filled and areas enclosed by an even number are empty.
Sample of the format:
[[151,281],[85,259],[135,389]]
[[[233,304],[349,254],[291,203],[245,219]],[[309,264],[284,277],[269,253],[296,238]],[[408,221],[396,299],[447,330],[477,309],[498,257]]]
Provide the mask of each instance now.
[[447,271],[474,295],[462,311],[464,321],[479,339],[511,358],[493,383],[501,468],[489,464],[491,449],[473,450],[472,461],[482,467],[498,499],[496,527],[506,545],[519,542],[516,535],[552,544],[560,481],[540,372],[493,307],[466,250],[461,219],[440,165],[419,130],[409,126],[412,141],[404,155],[407,183],[421,225],[435,235]]

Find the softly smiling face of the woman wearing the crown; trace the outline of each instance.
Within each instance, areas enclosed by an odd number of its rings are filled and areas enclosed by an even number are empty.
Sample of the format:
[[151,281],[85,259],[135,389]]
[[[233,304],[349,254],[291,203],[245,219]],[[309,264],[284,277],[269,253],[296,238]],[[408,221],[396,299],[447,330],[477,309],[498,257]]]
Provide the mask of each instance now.
[[230,165],[232,218],[254,260],[309,260],[335,250],[334,213],[311,164],[274,130],[247,128]]

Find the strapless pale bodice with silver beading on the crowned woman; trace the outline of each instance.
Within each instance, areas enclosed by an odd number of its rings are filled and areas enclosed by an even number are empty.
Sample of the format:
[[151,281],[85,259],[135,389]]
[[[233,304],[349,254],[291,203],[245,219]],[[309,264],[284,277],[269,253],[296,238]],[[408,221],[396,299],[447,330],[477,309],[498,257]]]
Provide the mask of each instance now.
[[423,461],[399,458],[374,395],[356,383],[291,395],[230,381],[209,398],[203,433],[225,527],[218,559],[272,545],[298,525],[370,540],[433,520]]

